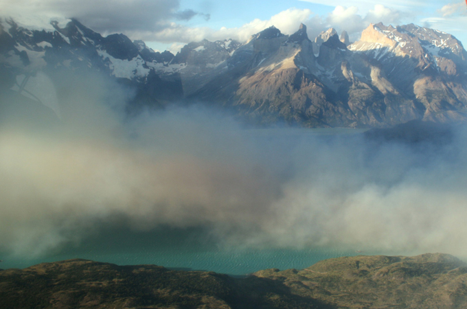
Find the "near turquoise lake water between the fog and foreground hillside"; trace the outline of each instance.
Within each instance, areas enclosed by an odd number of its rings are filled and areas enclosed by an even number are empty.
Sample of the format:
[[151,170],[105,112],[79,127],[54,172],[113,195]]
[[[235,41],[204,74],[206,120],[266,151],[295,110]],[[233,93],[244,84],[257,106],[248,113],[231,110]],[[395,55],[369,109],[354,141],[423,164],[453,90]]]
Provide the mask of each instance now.
[[320,260],[378,252],[336,248],[242,249],[218,247],[201,229],[157,229],[135,232],[104,229],[98,235],[54,254],[36,257],[2,255],[0,268],[25,268],[42,262],[82,258],[119,265],[155,264],[181,270],[247,275],[266,268],[302,269]]

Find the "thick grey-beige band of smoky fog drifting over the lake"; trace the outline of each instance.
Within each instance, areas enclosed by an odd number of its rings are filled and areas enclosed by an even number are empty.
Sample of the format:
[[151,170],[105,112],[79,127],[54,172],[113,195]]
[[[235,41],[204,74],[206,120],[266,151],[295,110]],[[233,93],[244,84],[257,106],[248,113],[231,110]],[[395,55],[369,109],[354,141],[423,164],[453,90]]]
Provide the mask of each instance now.
[[113,84],[56,87],[62,123],[2,122],[4,255],[79,251],[105,227],[115,238],[201,229],[192,237],[218,248],[467,257],[463,126],[411,144],[357,131],[244,128],[201,106],[128,119],[128,93]]

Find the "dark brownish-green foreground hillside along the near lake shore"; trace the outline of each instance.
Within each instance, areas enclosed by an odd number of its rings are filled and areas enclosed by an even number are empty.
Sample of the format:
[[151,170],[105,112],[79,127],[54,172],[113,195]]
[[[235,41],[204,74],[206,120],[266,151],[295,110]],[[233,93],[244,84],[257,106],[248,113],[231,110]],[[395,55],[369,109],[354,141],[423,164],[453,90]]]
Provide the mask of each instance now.
[[[452,255],[358,255],[244,278],[90,260],[0,271],[3,308],[465,308],[466,263]],[[27,287],[27,295],[25,288]]]

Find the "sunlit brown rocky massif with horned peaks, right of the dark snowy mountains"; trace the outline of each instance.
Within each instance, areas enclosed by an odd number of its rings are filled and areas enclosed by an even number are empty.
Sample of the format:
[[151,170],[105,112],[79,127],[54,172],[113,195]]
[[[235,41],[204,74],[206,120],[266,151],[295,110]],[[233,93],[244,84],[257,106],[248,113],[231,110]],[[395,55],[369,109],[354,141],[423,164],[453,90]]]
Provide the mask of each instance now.
[[301,32],[303,27],[283,42],[271,38],[275,43],[267,50],[250,47],[253,38],[232,56],[234,65],[218,72],[216,87],[207,83],[195,96],[237,106],[264,123],[300,126],[385,127],[465,118],[466,52],[453,36],[378,24],[346,46],[331,29],[316,39],[323,41],[317,52]]

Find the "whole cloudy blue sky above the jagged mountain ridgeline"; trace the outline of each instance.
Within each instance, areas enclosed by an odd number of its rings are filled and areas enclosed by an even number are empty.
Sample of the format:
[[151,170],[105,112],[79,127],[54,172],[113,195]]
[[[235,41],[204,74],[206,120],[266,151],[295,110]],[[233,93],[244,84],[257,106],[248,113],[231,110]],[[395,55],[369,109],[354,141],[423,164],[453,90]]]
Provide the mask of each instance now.
[[464,0],[0,0],[0,14],[75,17],[104,35],[124,33],[150,47],[177,52],[191,41],[234,38],[275,25],[284,34],[300,23],[308,36],[334,27],[358,40],[369,23],[415,23],[448,32],[467,44],[467,7]]

